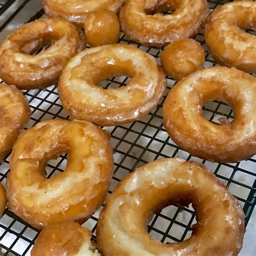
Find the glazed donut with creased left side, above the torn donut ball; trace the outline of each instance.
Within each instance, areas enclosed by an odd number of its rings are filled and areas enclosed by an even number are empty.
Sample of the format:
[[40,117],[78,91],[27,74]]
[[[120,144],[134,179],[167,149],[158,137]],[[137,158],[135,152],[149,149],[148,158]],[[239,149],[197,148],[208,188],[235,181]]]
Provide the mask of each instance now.
[[[68,152],[65,172],[45,178],[49,159]],[[109,137],[89,122],[48,120],[19,136],[6,193],[9,208],[36,228],[63,220],[83,223],[106,196],[113,173]]]

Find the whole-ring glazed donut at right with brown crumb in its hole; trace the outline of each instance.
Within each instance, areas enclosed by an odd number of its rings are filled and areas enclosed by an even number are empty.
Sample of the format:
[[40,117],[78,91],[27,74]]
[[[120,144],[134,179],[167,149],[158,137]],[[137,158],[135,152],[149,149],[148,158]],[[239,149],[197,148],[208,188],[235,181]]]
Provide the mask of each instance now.
[[[232,106],[232,123],[214,124],[202,106],[219,99]],[[228,163],[256,154],[256,78],[235,68],[202,69],[173,86],[164,107],[171,139],[193,156]]]

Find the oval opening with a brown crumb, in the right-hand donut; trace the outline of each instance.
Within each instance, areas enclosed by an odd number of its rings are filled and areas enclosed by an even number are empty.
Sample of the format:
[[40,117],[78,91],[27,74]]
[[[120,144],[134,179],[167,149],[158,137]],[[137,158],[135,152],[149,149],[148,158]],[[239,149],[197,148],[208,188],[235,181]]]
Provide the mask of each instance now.
[[234,119],[231,106],[219,100],[213,100],[203,106],[203,117],[215,124],[228,124]]

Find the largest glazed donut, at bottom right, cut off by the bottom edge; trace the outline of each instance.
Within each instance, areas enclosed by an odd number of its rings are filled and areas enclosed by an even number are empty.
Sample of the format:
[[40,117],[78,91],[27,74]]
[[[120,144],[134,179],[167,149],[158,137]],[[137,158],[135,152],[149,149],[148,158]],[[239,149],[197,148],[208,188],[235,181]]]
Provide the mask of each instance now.
[[[191,238],[161,244],[147,233],[154,212],[191,201],[197,214]],[[98,249],[104,256],[238,255],[244,218],[237,199],[204,165],[160,159],[126,176],[107,199],[97,224]]]

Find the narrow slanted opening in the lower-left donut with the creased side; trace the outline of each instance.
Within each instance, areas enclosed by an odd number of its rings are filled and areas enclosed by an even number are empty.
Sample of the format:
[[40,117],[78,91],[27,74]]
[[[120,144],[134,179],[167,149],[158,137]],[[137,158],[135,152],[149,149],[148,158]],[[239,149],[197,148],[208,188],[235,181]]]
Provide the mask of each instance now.
[[46,178],[51,179],[66,170],[68,152],[59,154],[56,158],[50,158],[45,166]]

